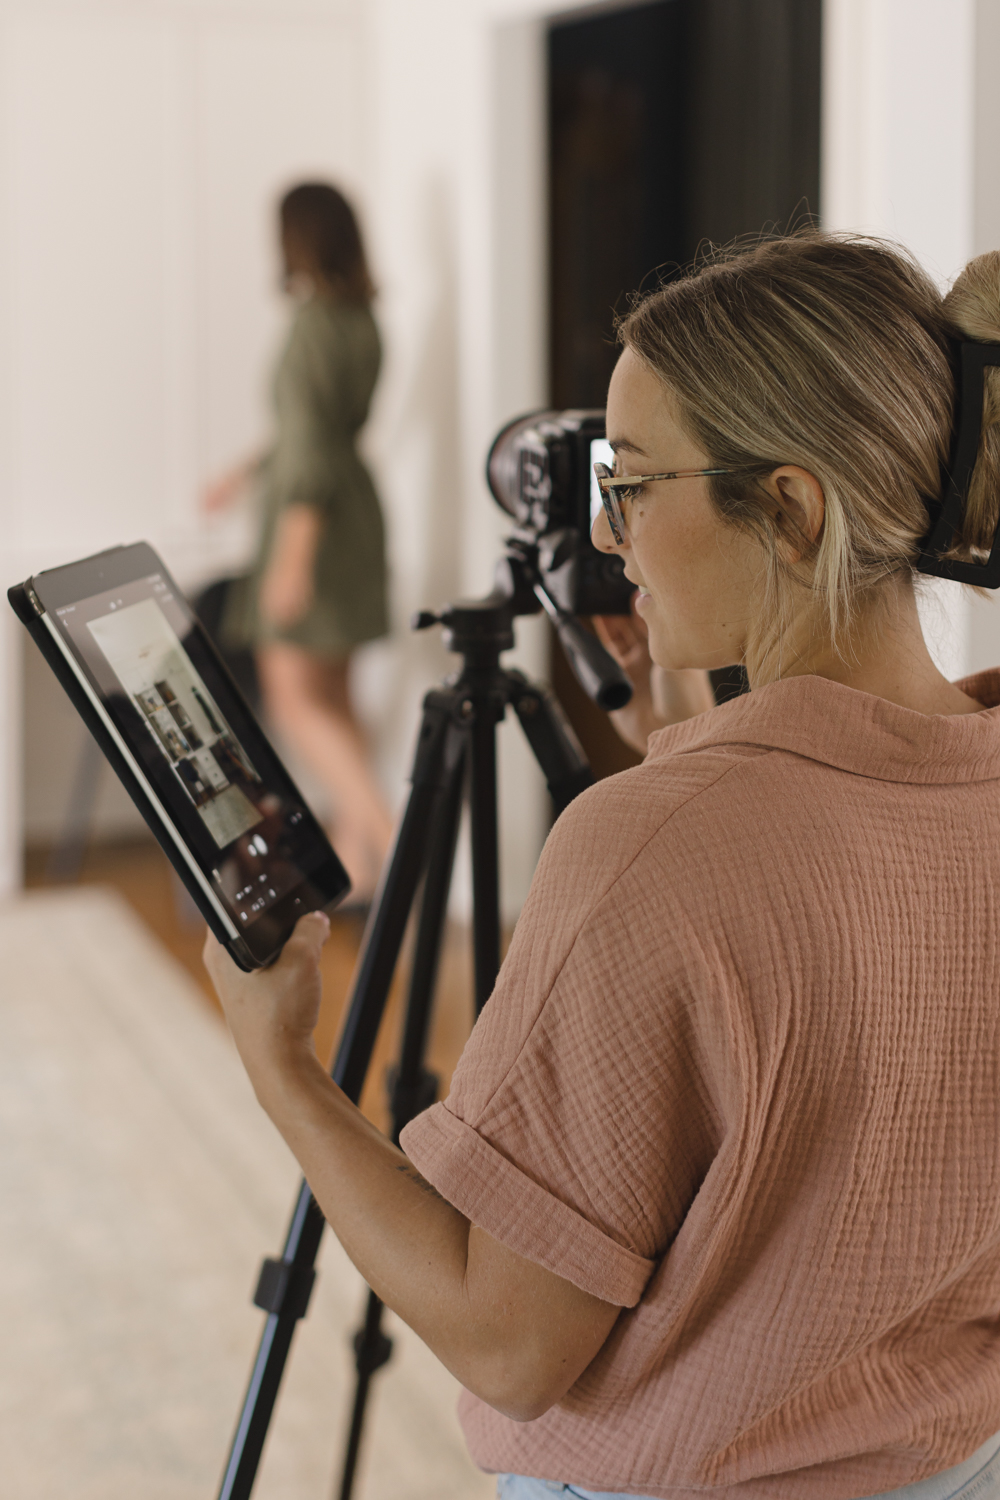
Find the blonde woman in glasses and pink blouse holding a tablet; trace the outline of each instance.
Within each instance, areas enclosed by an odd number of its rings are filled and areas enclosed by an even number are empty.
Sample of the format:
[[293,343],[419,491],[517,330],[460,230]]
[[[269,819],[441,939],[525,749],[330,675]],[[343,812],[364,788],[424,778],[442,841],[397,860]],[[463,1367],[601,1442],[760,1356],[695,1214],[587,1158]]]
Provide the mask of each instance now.
[[558,820],[405,1155],[313,1054],[325,920],[262,975],[208,946],[262,1106],[505,1500],[1000,1494],[1000,674],[949,682],[915,591],[969,339],[1000,342],[1000,255],[942,300],[817,232],[625,318],[595,542],[654,663],[751,690]]

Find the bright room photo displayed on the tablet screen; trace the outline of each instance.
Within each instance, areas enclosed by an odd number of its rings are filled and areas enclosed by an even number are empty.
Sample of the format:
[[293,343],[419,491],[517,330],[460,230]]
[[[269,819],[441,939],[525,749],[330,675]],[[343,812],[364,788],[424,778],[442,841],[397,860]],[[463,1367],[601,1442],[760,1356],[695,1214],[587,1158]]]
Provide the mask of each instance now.
[[87,628],[219,849],[262,822],[261,777],[156,600]]

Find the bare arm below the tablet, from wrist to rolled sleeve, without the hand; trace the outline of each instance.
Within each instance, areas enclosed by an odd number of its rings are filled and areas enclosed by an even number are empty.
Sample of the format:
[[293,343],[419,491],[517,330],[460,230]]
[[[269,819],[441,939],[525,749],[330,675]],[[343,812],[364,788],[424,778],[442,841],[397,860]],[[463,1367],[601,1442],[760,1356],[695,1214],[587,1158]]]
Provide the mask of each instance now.
[[618,1308],[469,1224],[315,1058],[258,1089],[357,1269],[462,1384],[516,1420],[564,1395]]

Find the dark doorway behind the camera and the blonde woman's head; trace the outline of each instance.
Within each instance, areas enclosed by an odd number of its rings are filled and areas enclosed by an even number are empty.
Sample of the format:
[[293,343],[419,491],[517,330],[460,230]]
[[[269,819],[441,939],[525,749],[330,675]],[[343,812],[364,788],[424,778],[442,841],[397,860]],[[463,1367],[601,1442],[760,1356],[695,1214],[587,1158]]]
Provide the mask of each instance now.
[[[820,20],[822,0],[654,0],[553,22],[553,406],[604,405],[630,294],[817,212]],[[558,644],[552,680],[594,770],[636,764]]]

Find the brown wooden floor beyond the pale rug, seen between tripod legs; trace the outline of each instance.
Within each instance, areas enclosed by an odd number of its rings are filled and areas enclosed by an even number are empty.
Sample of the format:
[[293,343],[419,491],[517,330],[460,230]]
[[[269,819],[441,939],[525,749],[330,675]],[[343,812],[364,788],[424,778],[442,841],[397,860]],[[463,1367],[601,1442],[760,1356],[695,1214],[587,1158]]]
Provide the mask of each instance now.
[[[30,849],[27,852],[27,886],[51,884],[46,879],[45,866],[46,850]],[[84,860],[79,880],[115,886],[174,958],[189,970],[204,994],[205,1005],[219,1010],[214,990],[201,963],[204,924],[151,838],[148,842],[93,846]],[[330,940],[322,956],[324,1002],[316,1028],[316,1050],[321,1058],[333,1053],[360,939],[360,921],[337,918],[334,914]],[[361,1095],[361,1108],[381,1130],[388,1126],[384,1078],[397,1050],[405,1004],[405,968],[406,956],[403,954]],[[469,936],[465,928],[451,927],[441,956],[438,996],[427,1048],[427,1066],[441,1080],[439,1098],[447,1094],[451,1072],[472,1024],[471,994],[472,952]]]

